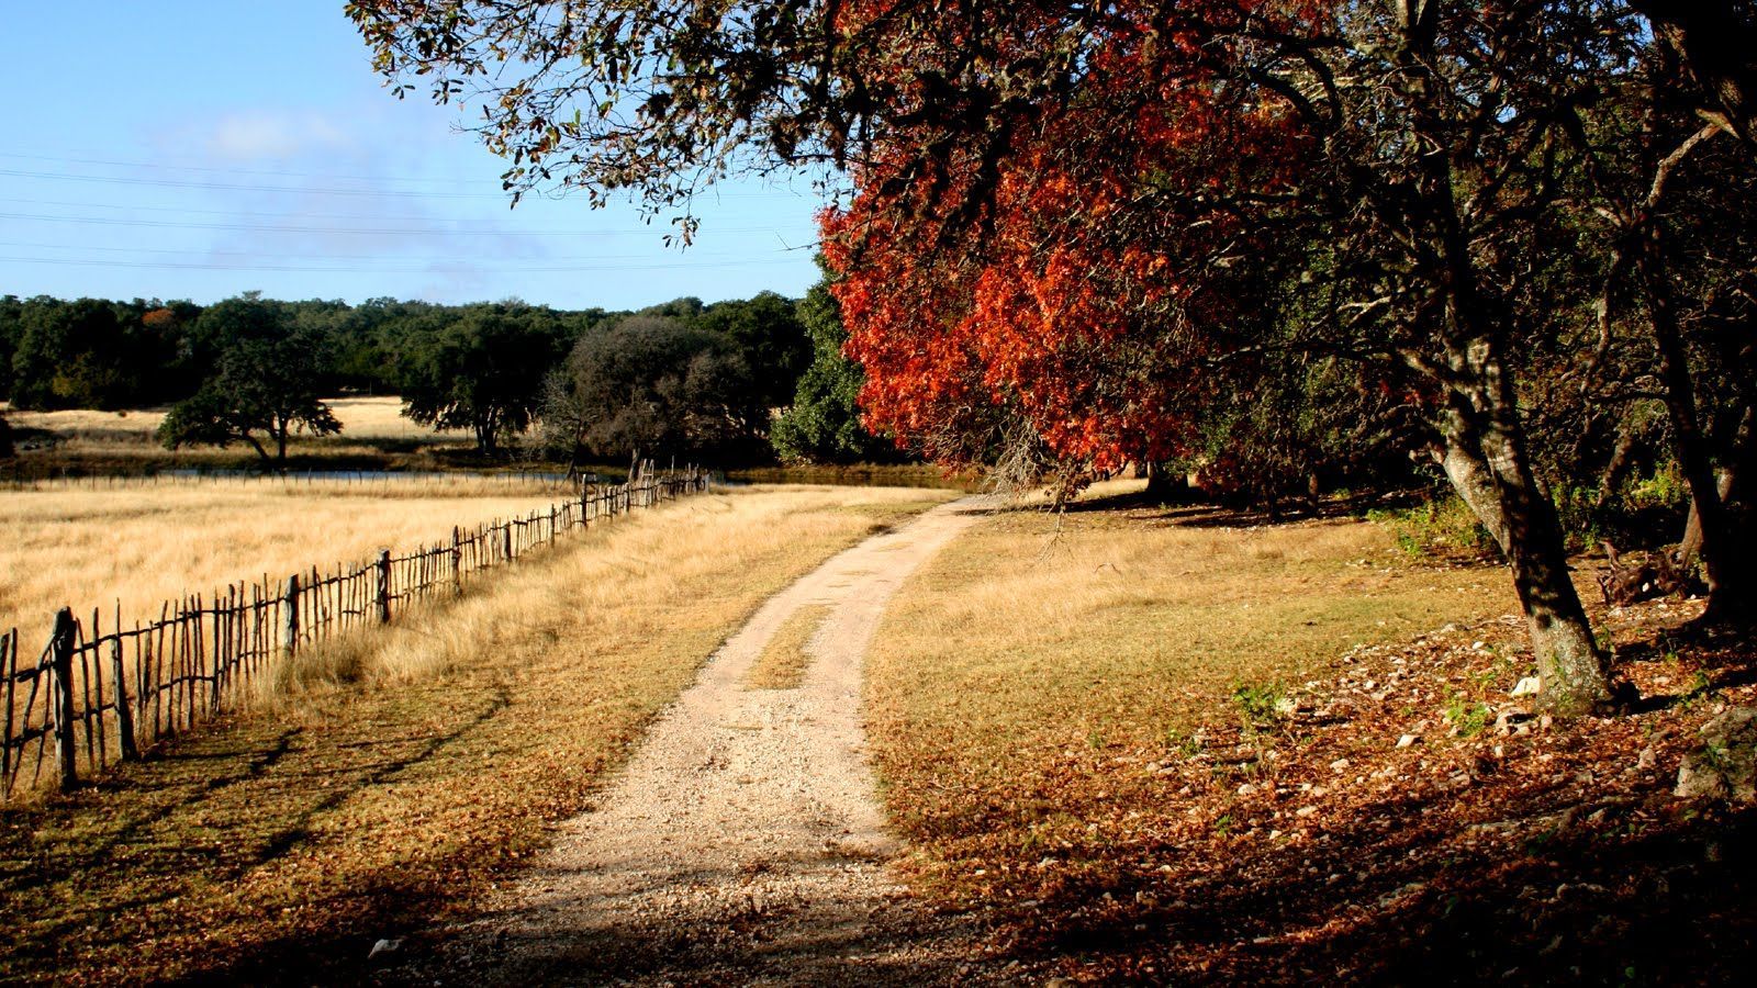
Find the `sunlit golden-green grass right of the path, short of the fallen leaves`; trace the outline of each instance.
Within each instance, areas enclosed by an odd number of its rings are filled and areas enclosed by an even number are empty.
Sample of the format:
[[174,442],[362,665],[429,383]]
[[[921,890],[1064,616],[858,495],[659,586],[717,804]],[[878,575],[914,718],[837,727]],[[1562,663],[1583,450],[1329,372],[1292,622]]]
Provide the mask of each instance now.
[[1038,825],[1119,805],[1133,782],[1114,759],[1158,758],[1235,708],[1240,686],[1509,610],[1499,570],[1411,564],[1365,522],[1112,508],[1058,531],[1003,512],[905,585],[878,629],[868,707],[887,803],[935,861],[1030,847]]

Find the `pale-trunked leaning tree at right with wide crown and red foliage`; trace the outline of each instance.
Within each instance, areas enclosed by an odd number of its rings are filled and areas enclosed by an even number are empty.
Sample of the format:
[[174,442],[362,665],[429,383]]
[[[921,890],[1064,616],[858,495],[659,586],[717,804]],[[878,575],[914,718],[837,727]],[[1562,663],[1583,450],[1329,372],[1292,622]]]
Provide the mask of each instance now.
[[[1713,5],[1708,5],[1713,7]],[[1522,353],[1581,113],[1653,33],[1594,0],[358,0],[399,93],[481,98],[513,193],[821,165],[875,424],[1072,473],[1195,445],[1263,374],[1420,410],[1504,550],[1544,700],[1609,698]],[[1692,21],[1690,25],[1697,25]],[[1673,26],[1660,23],[1660,37]],[[1680,28],[1680,46],[1688,32]],[[1699,33],[1694,37],[1701,37]],[[1688,47],[1724,118],[1741,65]],[[1706,54],[1703,54],[1706,51]],[[1732,83],[1724,84],[1727,79]],[[1729,125],[1739,130],[1739,123]],[[1327,364],[1328,366],[1328,364]],[[1284,385],[1277,394],[1284,394]]]

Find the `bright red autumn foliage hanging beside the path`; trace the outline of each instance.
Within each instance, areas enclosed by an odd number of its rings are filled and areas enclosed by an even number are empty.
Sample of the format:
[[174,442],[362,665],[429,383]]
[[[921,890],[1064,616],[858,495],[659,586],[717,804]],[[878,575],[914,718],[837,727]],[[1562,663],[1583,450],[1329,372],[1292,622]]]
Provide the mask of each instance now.
[[929,137],[905,135],[822,216],[871,427],[954,462],[1024,445],[1079,482],[1189,454],[1198,410],[1228,397],[1223,371],[1249,364],[1290,258],[1263,214],[1204,190],[1277,195],[1297,121],[1239,113],[1197,37],[1140,18],[1109,39],[1079,98],[1001,123],[991,190],[972,151],[910,181]]

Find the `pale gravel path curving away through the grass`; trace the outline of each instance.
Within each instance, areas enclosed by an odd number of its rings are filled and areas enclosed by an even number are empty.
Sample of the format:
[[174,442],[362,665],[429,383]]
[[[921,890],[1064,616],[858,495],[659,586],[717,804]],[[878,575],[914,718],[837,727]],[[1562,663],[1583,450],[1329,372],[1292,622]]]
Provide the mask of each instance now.
[[[861,665],[903,580],[982,499],[842,552],[768,603],[654,724],[599,809],[445,953],[488,983],[933,984],[980,976],[968,923],[889,875]],[[829,615],[798,689],[743,675],[801,607]],[[467,974],[466,974],[467,972]]]

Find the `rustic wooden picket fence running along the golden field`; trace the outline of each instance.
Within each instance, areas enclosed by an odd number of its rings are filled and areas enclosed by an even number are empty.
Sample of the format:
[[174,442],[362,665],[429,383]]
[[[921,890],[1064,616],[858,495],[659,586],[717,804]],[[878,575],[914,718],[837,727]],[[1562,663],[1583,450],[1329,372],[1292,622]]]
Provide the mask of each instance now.
[[511,563],[575,527],[650,508],[708,489],[699,469],[657,473],[641,464],[625,483],[582,483],[580,496],[524,519],[452,529],[450,543],[420,547],[332,573],[267,577],[213,596],[165,601],[158,619],[111,628],[102,614],[54,615],[49,643],[21,661],[18,628],[0,633],[0,800],[28,775],[42,782],[44,761],[61,789],[116,759],[135,759],[162,738],[188,731],[300,649],[362,624],[388,622],[409,601],[459,594],[464,577]]

